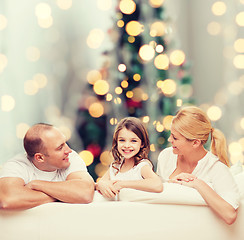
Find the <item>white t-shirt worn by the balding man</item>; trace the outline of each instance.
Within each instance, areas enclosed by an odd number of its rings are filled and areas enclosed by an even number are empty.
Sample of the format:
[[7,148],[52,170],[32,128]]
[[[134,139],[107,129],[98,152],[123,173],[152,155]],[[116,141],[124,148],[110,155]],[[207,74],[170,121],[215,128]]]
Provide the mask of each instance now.
[[65,181],[72,172],[87,171],[84,161],[75,151],[69,154],[69,161],[70,166],[67,169],[45,172],[36,168],[26,154],[18,154],[3,165],[0,177],[19,177],[27,184],[32,180]]

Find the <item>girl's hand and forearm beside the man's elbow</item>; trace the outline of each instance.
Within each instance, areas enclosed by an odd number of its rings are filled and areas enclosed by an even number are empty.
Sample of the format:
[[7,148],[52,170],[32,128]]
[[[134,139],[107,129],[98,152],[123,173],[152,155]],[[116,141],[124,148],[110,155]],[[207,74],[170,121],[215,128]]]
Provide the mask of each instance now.
[[96,183],[96,190],[98,190],[104,197],[114,198],[118,194],[118,190],[114,187],[115,181],[110,180],[109,170]]

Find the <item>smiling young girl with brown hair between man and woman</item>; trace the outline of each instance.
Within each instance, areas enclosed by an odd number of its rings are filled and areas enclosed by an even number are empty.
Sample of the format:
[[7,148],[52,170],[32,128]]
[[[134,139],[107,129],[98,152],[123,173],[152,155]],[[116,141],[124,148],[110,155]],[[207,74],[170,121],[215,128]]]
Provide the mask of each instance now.
[[149,138],[142,122],[134,117],[122,119],[114,132],[114,162],[96,184],[104,197],[113,198],[122,188],[162,192],[161,179],[153,172],[148,159]]

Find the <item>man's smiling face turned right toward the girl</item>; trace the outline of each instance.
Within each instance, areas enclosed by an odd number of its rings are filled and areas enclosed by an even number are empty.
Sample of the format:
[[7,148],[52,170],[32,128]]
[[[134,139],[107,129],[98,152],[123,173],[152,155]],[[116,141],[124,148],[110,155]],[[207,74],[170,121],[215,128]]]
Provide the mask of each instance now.
[[42,170],[51,172],[68,168],[71,149],[66,144],[65,136],[57,128],[52,128],[44,131],[41,138],[46,148],[46,152],[43,153],[44,169]]

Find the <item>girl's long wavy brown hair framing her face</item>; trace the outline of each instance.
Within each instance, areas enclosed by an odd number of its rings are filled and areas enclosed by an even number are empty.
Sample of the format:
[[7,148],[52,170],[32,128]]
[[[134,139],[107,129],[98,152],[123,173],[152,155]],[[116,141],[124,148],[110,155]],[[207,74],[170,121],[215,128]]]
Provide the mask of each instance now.
[[145,126],[140,121],[140,119],[135,117],[123,118],[115,128],[114,135],[113,135],[112,150],[111,150],[112,155],[114,157],[114,162],[112,163],[112,167],[116,169],[117,172],[119,171],[119,167],[123,162],[122,156],[118,151],[118,135],[119,135],[119,131],[123,128],[132,131],[137,135],[138,138],[141,139],[140,151],[134,157],[135,165],[137,165],[142,159],[148,159],[148,153],[150,151],[148,133]]

